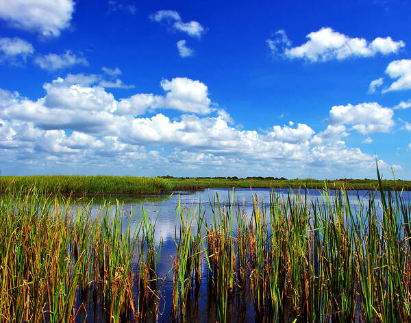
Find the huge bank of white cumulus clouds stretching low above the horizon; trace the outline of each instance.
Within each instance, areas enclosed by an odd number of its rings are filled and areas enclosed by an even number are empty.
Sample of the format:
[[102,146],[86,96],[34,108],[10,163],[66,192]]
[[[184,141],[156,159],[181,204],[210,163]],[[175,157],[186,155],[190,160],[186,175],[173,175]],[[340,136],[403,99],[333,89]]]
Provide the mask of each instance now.
[[[83,84],[71,84],[68,78]],[[116,99],[99,83],[88,84],[88,75],[68,75],[66,79],[46,83],[45,97],[36,100],[0,91],[2,163],[7,156],[14,163],[35,160],[42,165],[148,165],[184,171],[214,167],[261,172],[284,168],[301,171],[304,167],[358,169],[373,164],[373,156],[347,147],[341,140],[348,135],[341,117],[340,123],[329,124],[318,134],[309,125],[292,122],[273,125],[266,132],[242,130],[230,125],[233,121],[227,111],[214,108],[208,87],[198,80],[162,80],[162,95],[136,93]],[[155,112],[158,108],[190,114],[171,119]],[[143,115],[146,112],[151,114]],[[162,147],[173,151],[164,152]]]

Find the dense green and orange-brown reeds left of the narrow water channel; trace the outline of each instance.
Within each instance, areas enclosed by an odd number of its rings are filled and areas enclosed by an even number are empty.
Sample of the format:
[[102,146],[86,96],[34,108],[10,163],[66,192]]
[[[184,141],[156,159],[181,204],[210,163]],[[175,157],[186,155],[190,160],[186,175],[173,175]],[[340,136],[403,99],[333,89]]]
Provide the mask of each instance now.
[[2,322],[75,322],[91,308],[108,322],[146,317],[147,294],[159,292],[136,281],[157,280],[152,228],[127,222],[118,201],[97,217],[91,207],[74,211],[71,198],[35,187],[1,195]]

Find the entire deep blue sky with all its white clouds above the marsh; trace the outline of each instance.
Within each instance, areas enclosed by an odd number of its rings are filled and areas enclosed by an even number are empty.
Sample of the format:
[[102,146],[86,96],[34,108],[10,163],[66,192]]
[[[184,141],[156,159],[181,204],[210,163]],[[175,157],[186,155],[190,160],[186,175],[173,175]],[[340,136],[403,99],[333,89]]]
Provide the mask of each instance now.
[[409,1],[0,0],[2,175],[411,180]]

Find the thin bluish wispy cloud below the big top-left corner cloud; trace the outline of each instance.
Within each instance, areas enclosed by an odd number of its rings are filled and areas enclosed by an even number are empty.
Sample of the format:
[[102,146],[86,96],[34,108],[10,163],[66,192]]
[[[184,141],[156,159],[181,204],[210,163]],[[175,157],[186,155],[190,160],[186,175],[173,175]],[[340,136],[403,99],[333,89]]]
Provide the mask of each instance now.
[[62,54],[49,53],[47,55],[38,56],[34,62],[42,69],[55,71],[58,69],[66,69],[74,65],[88,65],[86,58],[76,56],[73,51],[66,51]]

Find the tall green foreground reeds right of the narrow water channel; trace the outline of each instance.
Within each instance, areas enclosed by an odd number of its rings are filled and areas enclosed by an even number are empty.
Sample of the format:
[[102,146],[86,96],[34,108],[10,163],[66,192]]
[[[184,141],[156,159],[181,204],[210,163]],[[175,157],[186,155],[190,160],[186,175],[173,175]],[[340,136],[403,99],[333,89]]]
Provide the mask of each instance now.
[[365,200],[256,196],[251,215],[212,200],[203,253],[219,322],[242,291],[262,322],[410,322],[411,204],[379,185]]

